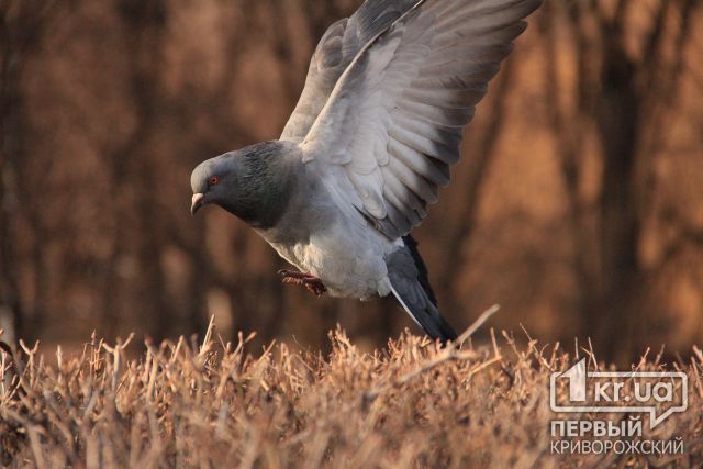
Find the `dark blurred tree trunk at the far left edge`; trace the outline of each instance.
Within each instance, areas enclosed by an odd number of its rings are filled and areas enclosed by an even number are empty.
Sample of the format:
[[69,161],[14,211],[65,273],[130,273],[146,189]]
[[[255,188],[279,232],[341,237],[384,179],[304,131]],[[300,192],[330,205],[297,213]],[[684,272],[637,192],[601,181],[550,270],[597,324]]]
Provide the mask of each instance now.
[[[59,10],[72,3],[52,0],[0,2],[0,324],[13,328],[8,333],[14,337],[27,337],[37,332],[36,327],[31,331],[26,327],[18,278],[18,219],[23,217],[23,212],[36,210],[21,194],[24,190],[22,177],[26,176],[25,167],[29,166],[25,138],[30,126],[22,90],[23,74],[47,27],[57,20]],[[30,213],[25,217],[34,228],[34,235],[43,241],[38,214]],[[35,276],[45,271],[44,249],[41,242],[34,247]],[[40,324],[45,286],[40,282],[37,288],[33,319]]]

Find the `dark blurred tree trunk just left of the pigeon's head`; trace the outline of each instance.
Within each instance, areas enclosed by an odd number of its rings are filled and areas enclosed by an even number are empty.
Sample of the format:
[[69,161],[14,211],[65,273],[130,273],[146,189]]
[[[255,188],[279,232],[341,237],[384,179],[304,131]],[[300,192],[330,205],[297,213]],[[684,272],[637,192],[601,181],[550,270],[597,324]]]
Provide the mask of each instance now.
[[[137,116],[137,125],[129,144],[118,155],[116,161],[126,159],[127,170],[116,171],[118,191],[126,186],[132,192],[138,236],[134,255],[138,263],[138,308],[147,314],[148,334],[160,340],[168,335],[174,320],[165,298],[160,236],[164,232],[164,211],[159,206],[159,166],[153,152],[154,138],[159,126],[163,104],[161,82],[164,72],[164,43],[168,9],[163,0],[119,0],[126,51],[131,58],[131,99]],[[118,163],[125,165],[125,163]],[[127,214],[123,214],[129,216]],[[121,246],[121,236],[115,239],[115,252]]]

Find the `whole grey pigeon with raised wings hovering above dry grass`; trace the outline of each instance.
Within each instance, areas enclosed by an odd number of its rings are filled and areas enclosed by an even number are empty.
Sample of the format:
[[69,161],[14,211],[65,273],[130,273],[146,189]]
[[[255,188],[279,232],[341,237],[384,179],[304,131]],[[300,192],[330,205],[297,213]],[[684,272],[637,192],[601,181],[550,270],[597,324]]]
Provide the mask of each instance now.
[[424,332],[439,314],[411,231],[449,183],[464,127],[542,0],[367,0],[320,41],[279,139],[201,163],[191,213],[215,204],[320,295],[392,294]]

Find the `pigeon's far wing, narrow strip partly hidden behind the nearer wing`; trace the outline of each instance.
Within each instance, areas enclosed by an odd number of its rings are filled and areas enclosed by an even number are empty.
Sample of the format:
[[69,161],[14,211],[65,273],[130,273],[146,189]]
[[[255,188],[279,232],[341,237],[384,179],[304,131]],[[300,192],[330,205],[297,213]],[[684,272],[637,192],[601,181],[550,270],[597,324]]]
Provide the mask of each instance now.
[[327,102],[339,76],[359,51],[419,0],[367,0],[349,19],[327,29],[310,60],[305,87],[280,139],[302,141]]

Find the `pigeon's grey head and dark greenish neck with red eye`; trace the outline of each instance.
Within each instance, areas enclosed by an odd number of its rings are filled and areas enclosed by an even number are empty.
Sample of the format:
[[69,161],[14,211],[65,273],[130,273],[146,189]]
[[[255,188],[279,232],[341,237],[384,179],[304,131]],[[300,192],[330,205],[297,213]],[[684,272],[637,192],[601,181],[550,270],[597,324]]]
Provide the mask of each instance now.
[[190,212],[214,204],[255,227],[272,226],[291,186],[283,153],[280,142],[264,142],[201,163],[190,176]]

